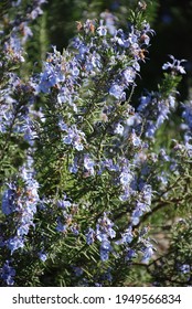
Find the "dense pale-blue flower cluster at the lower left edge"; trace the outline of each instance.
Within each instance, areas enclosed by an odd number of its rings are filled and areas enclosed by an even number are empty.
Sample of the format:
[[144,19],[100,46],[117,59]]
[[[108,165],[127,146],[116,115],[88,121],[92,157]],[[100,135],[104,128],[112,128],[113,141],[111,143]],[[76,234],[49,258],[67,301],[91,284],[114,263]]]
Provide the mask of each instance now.
[[21,169],[21,179],[24,188],[19,188],[15,183],[8,184],[8,189],[2,198],[2,212],[8,217],[9,224],[14,222],[15,235],[4,238],[4,245],[14,251],[24,247],[24,238],[29,234],[30,227],[34,227],[33,216],[36,213],[39,202],[39,183],[33,178],[32,158],[28,158],[28,167]]

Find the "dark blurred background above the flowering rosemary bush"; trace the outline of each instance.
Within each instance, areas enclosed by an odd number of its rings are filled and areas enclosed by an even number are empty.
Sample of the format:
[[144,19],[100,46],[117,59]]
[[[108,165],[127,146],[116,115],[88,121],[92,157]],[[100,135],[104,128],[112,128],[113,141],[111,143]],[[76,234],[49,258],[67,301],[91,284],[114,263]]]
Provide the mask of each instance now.
[[[141,1],[143,2],[143,1]],[[192,98],[192,1],[146,0],[147,18],[156,35],[151,40],[146,64],[142,65],[141,79],[138,87],[157,89],[162,77],[161,66],[172,54],[177,58],[188,60],[184,63],[186,75],[180,85],[180,98]],[[108,10],[118,18],[118,26],[125,29],[129,19],[129,10],[137,6],[137,0],[49,0],[44,6],[44,14],[33,29],[34,38],[29,43],[28,52],[36,62],[36,55],[43,60],[51,45],[62,51],[76,33],[76,21],[99,19],[102,12]],[[38,39],[38,40],[36,40]],[[38,43],[36,43],[38,42]]]

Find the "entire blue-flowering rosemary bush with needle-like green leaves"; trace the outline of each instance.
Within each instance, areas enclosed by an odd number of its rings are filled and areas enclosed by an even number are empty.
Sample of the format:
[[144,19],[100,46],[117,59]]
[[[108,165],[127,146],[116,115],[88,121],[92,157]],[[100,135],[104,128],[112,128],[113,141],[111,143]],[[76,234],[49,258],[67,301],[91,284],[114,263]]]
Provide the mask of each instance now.
[[191,285],[185,61],[136,104],[154,35],[139,1],[126,31],[104,11],[31,66],[45,2],[0,4],[0,285]]

